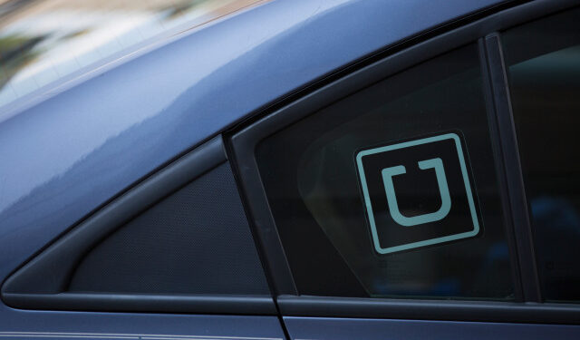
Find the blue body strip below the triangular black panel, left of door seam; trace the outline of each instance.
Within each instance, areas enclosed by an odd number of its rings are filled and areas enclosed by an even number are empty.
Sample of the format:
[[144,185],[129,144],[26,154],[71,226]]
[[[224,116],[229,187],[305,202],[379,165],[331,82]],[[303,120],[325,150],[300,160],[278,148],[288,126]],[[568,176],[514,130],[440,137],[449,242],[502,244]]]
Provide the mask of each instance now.
[[284,339],[276,316],[186,316],[0,308],[0,339]]

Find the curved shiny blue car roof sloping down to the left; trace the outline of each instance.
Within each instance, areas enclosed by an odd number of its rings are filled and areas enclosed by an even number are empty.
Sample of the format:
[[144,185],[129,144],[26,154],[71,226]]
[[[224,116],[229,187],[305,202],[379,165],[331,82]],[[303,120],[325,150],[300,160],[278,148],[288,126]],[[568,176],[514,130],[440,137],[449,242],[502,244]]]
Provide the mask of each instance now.
[[252,112],[500,2],[275,0],[14,102],[0,116],[0,237],[11,245],[0,257],[13,268],[131,183]]

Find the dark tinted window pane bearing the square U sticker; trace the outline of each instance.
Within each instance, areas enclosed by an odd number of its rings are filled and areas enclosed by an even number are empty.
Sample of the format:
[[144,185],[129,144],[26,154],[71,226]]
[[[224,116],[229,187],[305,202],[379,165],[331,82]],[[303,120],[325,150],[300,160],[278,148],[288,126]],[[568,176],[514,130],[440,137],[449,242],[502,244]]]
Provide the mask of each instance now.
[[513,297],[477,46],[315,112],[256,159],[300,294]]

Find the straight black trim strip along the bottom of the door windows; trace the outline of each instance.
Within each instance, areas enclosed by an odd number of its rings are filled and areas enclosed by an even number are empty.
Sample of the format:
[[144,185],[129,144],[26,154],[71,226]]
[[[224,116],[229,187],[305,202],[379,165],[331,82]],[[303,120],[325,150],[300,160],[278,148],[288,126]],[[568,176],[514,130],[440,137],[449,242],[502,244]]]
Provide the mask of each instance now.
[[284,316],[580,325],[580,305],[370,297],[278,296]]

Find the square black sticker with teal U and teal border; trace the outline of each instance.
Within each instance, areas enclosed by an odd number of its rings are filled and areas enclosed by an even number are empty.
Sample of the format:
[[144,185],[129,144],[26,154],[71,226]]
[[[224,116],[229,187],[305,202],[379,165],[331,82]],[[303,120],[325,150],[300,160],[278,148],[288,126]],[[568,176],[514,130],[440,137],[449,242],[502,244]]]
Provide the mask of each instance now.
[[478,235],[476,202],[458,134],[359,151],[356,165],[379,254]]

